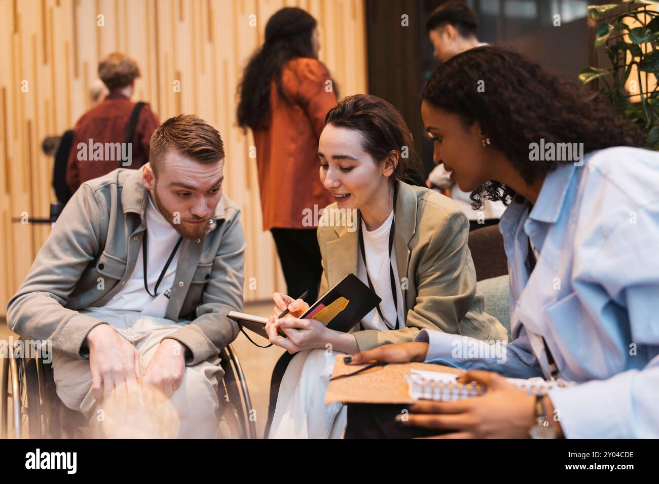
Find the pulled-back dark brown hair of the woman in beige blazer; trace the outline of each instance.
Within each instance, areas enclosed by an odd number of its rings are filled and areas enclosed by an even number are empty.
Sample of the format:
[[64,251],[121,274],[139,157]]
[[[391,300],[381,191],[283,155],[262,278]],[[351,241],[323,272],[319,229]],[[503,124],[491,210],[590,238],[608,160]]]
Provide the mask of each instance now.
[[390,179],[422,185],[423,167],[416,154],[414,139],[400,111],[381,97],[370,94],[349,95],[329,110],[325,125],[331,124],[360,132],[362,149],[378,163],[392,151],[398,163]]

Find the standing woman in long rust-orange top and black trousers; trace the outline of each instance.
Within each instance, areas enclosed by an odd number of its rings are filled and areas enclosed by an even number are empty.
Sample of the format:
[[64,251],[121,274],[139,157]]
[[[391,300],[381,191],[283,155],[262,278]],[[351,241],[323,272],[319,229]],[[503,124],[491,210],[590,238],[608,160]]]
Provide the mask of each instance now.
[[244,70],[237,109],[239,126],[254,134],[263,230],[272,232],[288,294],[306,291],[309,304],[322,266],[316,226],[304,215],[334,202],[318,177],[318,138],[336,95],[318,61],[316,25],[295,7],[270,17],[266,41]]

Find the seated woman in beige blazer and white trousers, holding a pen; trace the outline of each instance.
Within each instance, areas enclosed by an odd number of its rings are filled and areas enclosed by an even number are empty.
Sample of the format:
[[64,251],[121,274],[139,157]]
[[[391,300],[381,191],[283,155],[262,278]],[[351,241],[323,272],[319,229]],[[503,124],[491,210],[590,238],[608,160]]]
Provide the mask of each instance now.
[[[372,95],[345,98],[329,111],[318,146],[320,180],[333,209],[355,209],[357,230],[319,227],[320,293],[354,273],[382,298],[349,333],[297,319],[308,305],[275,293],[270,341],[297,353],[281,382],[270,437],[339,438],[345,408],[324,404],[336,352],[411,341],[421,329],[507,340],[482,311],[467,247],[469,221],[422,182],[413,139],[400,113]],[[392,282],[395,281],[395,282]],[[287,338],[277,334],[281,329]]]

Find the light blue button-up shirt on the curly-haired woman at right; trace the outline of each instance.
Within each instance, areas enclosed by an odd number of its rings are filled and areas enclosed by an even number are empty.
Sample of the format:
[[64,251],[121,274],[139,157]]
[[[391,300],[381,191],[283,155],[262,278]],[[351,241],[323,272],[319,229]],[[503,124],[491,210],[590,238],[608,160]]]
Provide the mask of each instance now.
[[426,361],[549,378],[544,337],[579,383],[549,392],[566,437],[659,437],[659,153],[589,153],[548,173],[529,207],[516,198],[500,222],[513,342],[464,358],[462,336],[424,329]]

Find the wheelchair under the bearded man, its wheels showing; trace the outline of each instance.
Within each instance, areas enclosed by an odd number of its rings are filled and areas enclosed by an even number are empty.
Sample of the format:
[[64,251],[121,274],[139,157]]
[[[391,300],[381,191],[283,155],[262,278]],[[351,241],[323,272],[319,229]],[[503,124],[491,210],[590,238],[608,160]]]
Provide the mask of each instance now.
[[[16,356],[16,346],[1,359],[0,439],[79,439],[88,420],[67,408],[57,396],[53,369],[37,355]],[[217,399],[229,437],[256,439],[250,419],[252,402],[243,369],[231,344],[220,354],[224,377],[218,382]]]

